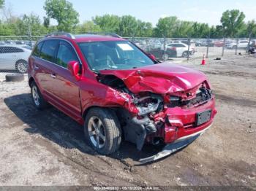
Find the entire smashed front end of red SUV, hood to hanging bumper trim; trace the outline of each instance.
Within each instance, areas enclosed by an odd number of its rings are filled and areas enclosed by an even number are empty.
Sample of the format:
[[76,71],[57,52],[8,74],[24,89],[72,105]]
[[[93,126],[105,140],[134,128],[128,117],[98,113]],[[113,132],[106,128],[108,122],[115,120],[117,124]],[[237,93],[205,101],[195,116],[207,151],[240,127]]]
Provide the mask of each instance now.
[[[202,73],[102,71],[98,81],[116,90],[124,102],[116,111],[124,138],[140,150],[145,143],[166,144],[148,163],[186,147],[202,134],[217,113],[214,95]],[[193,76],[194,75],[194,76]]]

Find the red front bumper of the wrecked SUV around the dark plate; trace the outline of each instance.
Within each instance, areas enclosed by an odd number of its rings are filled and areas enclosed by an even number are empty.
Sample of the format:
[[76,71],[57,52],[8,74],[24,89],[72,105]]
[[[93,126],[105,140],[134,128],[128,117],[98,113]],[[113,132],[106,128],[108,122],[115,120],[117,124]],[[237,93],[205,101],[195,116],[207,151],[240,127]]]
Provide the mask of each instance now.
[[[196,126],[196,114],[211,109],[211,117],[208,122]],[[167,122],[162,133],[165,144],[182,141],[192,136],[204,133],[210,128],[214,120],[217,109],[215,109],[214,98],[202,106],[197,106],[192,109],[181,109],[180,107],[169,108],[166,110]]]

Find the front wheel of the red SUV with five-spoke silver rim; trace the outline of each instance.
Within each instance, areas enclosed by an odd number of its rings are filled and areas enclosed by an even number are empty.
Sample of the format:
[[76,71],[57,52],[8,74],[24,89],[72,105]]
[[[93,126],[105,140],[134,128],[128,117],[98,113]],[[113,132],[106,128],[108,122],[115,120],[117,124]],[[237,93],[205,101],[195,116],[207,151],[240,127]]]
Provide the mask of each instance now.
[[110,155],[120,147],[120,124],[110,109],[90,109],[83,129],[88,144],[101,155]]

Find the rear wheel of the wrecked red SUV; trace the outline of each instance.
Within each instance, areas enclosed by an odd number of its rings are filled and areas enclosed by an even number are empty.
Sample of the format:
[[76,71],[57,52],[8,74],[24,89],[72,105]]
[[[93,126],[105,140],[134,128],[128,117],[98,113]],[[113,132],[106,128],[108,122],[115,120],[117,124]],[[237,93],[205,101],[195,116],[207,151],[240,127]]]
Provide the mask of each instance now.
[[48,102],[42,97],[42,94],[35,82],[31,83],[31,98],[34,106],[39,110],[45,109],[49,106]]

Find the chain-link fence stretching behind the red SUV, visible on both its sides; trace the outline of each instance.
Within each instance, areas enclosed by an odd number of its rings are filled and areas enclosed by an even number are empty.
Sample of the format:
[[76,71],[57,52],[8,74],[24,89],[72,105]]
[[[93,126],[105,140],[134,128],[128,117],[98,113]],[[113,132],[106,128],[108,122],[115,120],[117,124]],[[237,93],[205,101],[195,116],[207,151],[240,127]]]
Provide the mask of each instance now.
[[[28,58],[38,39],[43,36],[0,36],[0,73],[26,73]],[[190,58],[244,55],[256,39],[189,39],[127,37],[159,61],[189,60]]]

